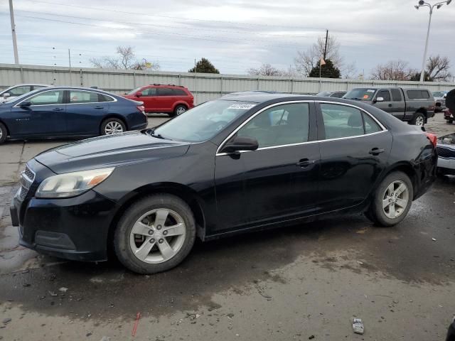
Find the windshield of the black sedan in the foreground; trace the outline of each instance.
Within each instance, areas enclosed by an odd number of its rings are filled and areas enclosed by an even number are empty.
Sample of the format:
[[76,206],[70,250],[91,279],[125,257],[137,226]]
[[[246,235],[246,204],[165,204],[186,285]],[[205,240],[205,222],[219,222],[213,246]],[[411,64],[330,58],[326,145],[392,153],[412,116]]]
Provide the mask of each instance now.
[[256,104],[223,99],[205,102],[154,129],[154,134],[164,139],[202,142],[211,139]]

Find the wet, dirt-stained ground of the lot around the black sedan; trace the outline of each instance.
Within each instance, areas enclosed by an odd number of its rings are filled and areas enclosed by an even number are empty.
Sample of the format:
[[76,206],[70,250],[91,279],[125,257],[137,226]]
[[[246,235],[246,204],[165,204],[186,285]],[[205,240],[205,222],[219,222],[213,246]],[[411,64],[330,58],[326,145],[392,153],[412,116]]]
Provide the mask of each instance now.
[[[437,116],[427,130],[455,125]],[[247,234],[196,244],[176,269],[138,276],[116,261],[18,247],[11,183],[28,158],[65,142],[0,147],[0,340],[444,340],[455,314],[454,177],[391,229],[355,215]],[[353,316],[365,335],[353,334]]]

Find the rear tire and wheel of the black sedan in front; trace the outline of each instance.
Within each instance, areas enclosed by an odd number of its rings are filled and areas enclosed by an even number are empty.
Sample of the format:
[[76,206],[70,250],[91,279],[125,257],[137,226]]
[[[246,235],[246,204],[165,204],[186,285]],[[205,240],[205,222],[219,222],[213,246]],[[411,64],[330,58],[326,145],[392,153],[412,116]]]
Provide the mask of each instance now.
[[[391,191],[392,187],[390,187],[392,185],[394,189],[393,192]],[[391,192],[397,193],[397,190],[403,189],[402,185],[405,185],[405,189],[402,190],[397,197],[390,197],[389,194],[391,194]],[[405,219],[407,212],[409,212],[411,208],[413,197],[414,188],[412,187],[410,178],[400,171],[390,173],[382,180],[375,190],[370,208],[368,209],[368,212],[365,213],[365,216],[379,226],[394,226]],[[390,202],[390,204],[387,205],[387,202]],[[382,206],[383,203],[384,205],[387,205],[384,208]],[[393,217],[394,213],[395,217]]]

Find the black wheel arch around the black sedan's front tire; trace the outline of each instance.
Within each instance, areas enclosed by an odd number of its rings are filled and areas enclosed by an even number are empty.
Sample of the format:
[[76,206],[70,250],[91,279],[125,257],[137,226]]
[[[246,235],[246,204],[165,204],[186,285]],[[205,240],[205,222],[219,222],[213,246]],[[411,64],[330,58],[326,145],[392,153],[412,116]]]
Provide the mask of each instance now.
[[191,193],[189,188],[186,188],[182,185],[146,185],[142,188],[135,190],[135,194],[131,197],[128,197],[122,205],[119,207],[117,212],[115,213],[114,217],[112,217],[111,224],[109,226],[109,232],[107,237],[107,248],[112,247],[112,240],[114,238],[114,231],[117,227],[117,222],[119,222],[120,217],[122,217],[123,213],[129,206],[131,206],[134,202],[141,200],[142,197],[146,195],[156,194],[156,193],[166,193],[175,195],[176,197],[181,198],[184,202],[188,204],[193,212],[194,219],[196,220],[196,236],[200,239],[203,238],[203,232],[205,231],[205,217],[200,207],[198,200],[196,199],[196,195]]

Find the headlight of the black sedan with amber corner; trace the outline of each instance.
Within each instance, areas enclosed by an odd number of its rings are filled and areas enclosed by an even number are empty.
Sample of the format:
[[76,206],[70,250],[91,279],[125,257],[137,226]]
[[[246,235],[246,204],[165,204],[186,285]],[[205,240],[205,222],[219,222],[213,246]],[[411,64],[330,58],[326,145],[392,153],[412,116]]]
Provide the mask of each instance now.
[[114,168],[93,169],[65,173],[46,178],[38,187],[36,197],[75,197],[102,183],[114,171]]

